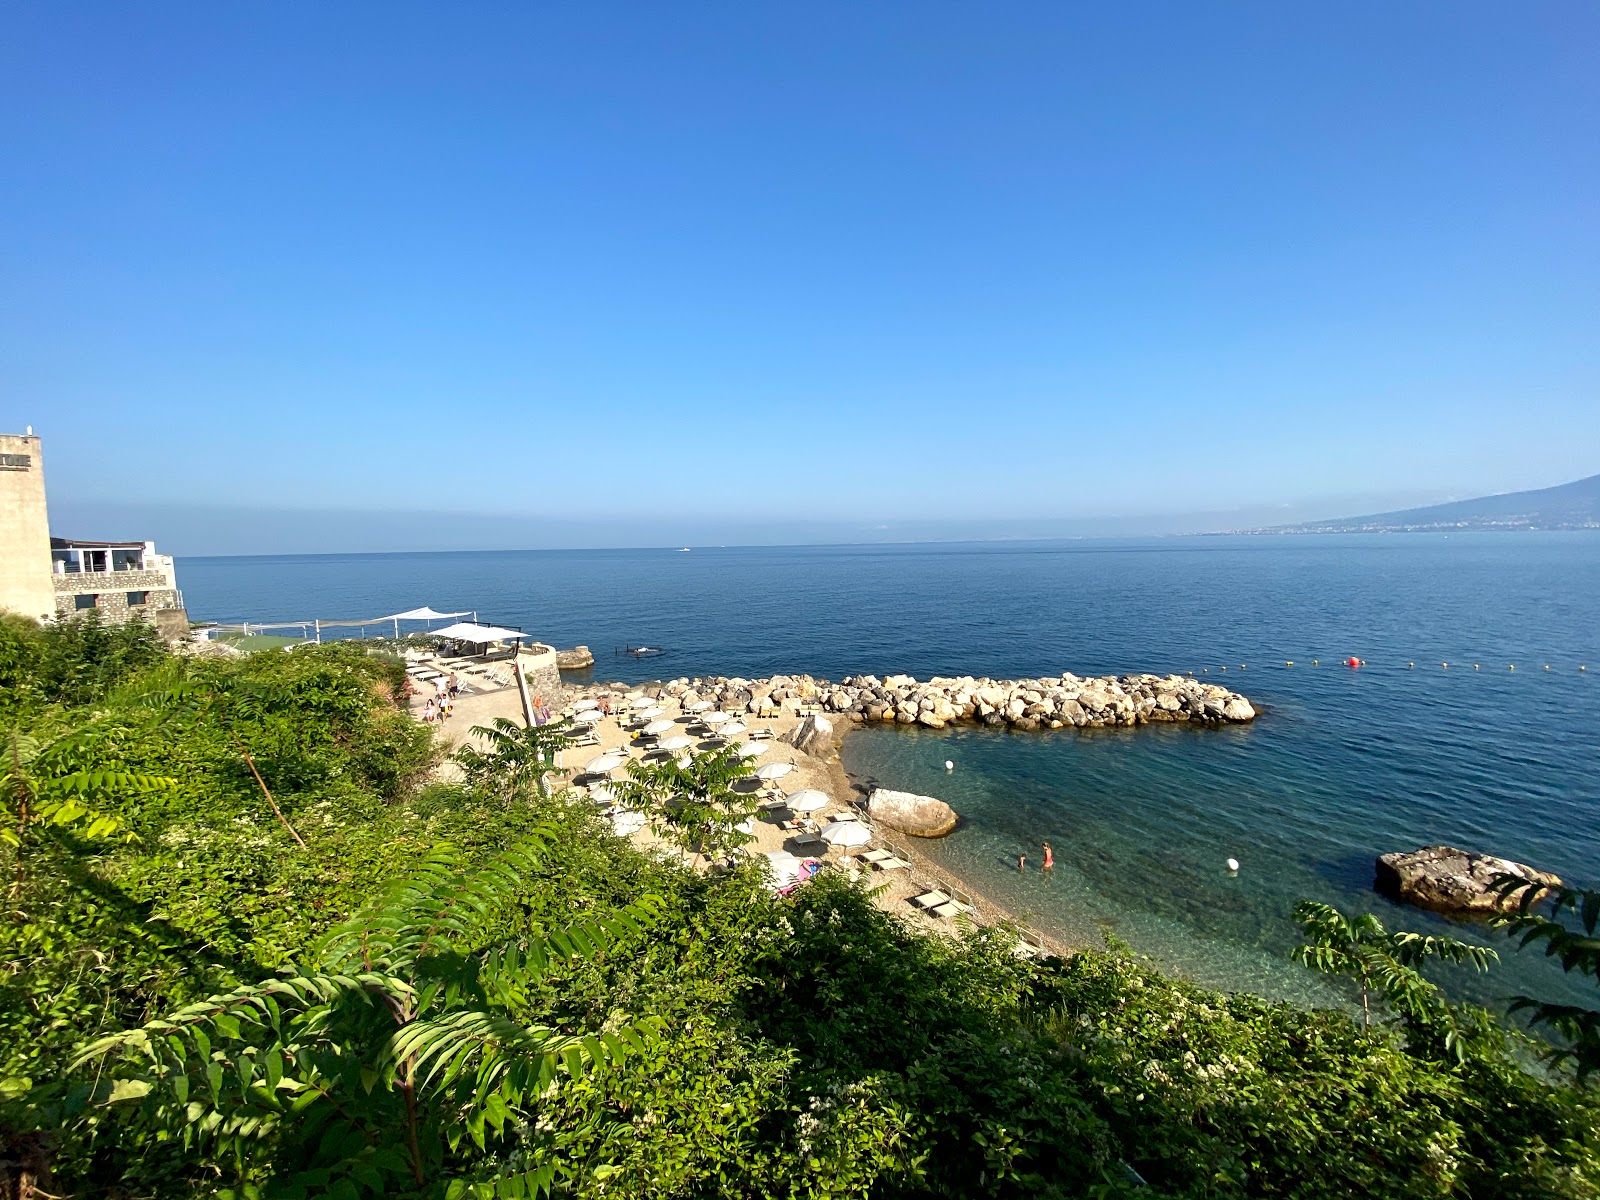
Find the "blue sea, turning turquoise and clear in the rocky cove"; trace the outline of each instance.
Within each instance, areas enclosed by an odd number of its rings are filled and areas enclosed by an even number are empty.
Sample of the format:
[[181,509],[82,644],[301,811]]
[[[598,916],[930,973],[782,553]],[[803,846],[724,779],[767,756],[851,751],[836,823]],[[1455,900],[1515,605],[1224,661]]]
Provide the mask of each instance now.
[[[960,813],[950,837],[918,843],[936,869],[1045,933],[1078,944],[1109,934],[1206,986],[1349,1003],[1290,960],[1293,907],[1310,899],[1494,946],[1501,963],[1486,974],[1435,976],[1453,995],[1586,998],[1558,965],[1482,922],[1382,899],[1373,859],[1443,842],[1600,885],[1600,533],[272,555],[178,568],[194,619],[470,610],[557,646],[587,645],[594,678],[629,683],[1194,672],[1250,696],[1259,718],[1222,730],[874,726],[846,739],[843,762],[861,781]],[[661,653],[626,653],[642,645]]]

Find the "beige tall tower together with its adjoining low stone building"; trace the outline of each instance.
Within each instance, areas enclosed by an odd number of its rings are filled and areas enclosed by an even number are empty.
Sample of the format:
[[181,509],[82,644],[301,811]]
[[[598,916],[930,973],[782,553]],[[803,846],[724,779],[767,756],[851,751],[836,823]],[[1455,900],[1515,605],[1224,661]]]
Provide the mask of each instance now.
[[32,429],[0,434],[0,610],[35,621],[144,616],[168,638],[189,635],[173,560],[155,542],[50,536],[45,459]]

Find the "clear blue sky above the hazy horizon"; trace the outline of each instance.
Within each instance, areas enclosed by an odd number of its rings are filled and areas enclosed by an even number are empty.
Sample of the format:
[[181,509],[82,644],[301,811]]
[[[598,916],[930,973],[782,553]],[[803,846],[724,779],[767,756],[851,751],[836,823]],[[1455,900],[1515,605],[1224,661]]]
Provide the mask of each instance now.
[[1600,470],[1592,0],[0,22],[0,427],[74,512],[760,539]]

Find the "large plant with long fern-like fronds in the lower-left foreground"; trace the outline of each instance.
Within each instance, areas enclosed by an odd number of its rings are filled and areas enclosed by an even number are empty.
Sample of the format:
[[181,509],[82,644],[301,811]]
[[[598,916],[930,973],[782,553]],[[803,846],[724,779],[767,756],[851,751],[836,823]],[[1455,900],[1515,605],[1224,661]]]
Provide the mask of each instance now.
[[[544,938],[494,933],[531,883],[547,834],[464,869],[438,846],[315,947],[312,963],[99,1038],[75,1066],[120,1056],[131,1070],[96,1098],[234,1165],[264,1195],[547,1192],[555,1168],[528,1134],[558,1074],[621,1062],[653,1022],[526,1024],[552,963],[598,955],[659,914],[643,899]],[[462,1142],[518,1162],[474,1170]]]

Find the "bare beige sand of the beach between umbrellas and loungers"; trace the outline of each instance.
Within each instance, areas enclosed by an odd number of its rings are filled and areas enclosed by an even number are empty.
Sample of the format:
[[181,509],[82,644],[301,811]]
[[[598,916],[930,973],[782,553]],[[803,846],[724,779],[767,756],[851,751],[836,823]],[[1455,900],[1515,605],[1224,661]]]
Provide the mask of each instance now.
[[[571,704],[584,698],[606,698],[614,706],[622,696],[632,691],[656,694],[659,685],[654,683],[632,686],[619,683],[571,685],[563,688],[563,696],[546,698],[546,702],[550,706],[554,714],[560,715],[563,710],[570,712]],[[411,704],[413,714],[421,714],[424,699],[426,698],[422,696],[414,698]],[[656,702],[666,709],[659,720],[672,720],[683,726],[690,723],[690,717],[682,710],[677,699],[662,694]],[[506,717],[522,723],[522,701],[515,688],[502,688],[498,691],[483,691],[458,698],[454,702],[454,715],[443,725],[437,726],[435,736],[448,752],[472,736],[472,726],[490,725],[496,717]],[[866,798],[866,789],[848,776],[838,758],[838,746],[843,738],[848,738],[851,730],[854,730],[854,722],[835,720],[837,744],[830,747],[826,755],[819,757],[805,754],[779,741],[782,734],[792,731],[803,720],[803,715],[789,706],[779,709],[773,717],[739,715],[739,720],[744,720],[752,731],[770,730],[773,734],[771,741],[757,742],[768,747],[766,752],[755,760],[757,766],[776,762],[790,763],[794,766],[794,770],[782,778],[784,792],[797,792],[800,789],[814,787],[816,790],[834,798],[834,805],[816,814],[819,822],[826,824],[827,818],[834,813],[843,811],[851,806],[853,802]],[[562,778],[568,782],[581,773],[586,762],[598,757],[605,750],[621,750],[630,754],[630,757],[640,755],[640,749],[632,744],[632,734],[622,728],[616,715],[605,717],[592,728],[598,738],[598,746],[573,747],[562,755]],[[453,770],[453,765],[445,763],[442,768],[442,778],[450,778]],[[621,768],[611,774],[613,778],[622,778]],[[662,848],[667,853],[677,853],[674,848],[664,845],[648,827],[634,834],[632,840],[642,848]],[[878,843],[882,840],[890,840],[896,848],[906,851],[906,856],[912,864],[909,870],[864,870],[858,875],[859,878],[869,882],[874,888],[882,888],[882,891],[875,896],[875,902],[885,912],[893,914],[917,930],[947,934],[952,928],[949,922],[939,917],[931,917],[909,902],[912,896],[923,893],[930,885],[941,883],[960,888],[973,898],[978,907],[974,918],[978,923],[994,925],[998,922],[1013,922],[1021,925],[1006,909],[990,901],[981,890],[973,888],[968,880],[963,880],[950,874],[947,869],[931,862],[918,848],[918,838],[906,837],[893,830],[880,830]],[[789,850],[797,856],[818,858],[824,862],[840,866],[845,870],[854,870],[850,851],[834,848],[819,850],[814,845],[797,846],[770,814],[760,814],[755,824],[755,842],[749,846],[749,851],[752,854],[763,854],[774,850]],[[1051,938],[1042,938],[1042,941],[1048,950],[1056,954],[1072,949]]]

